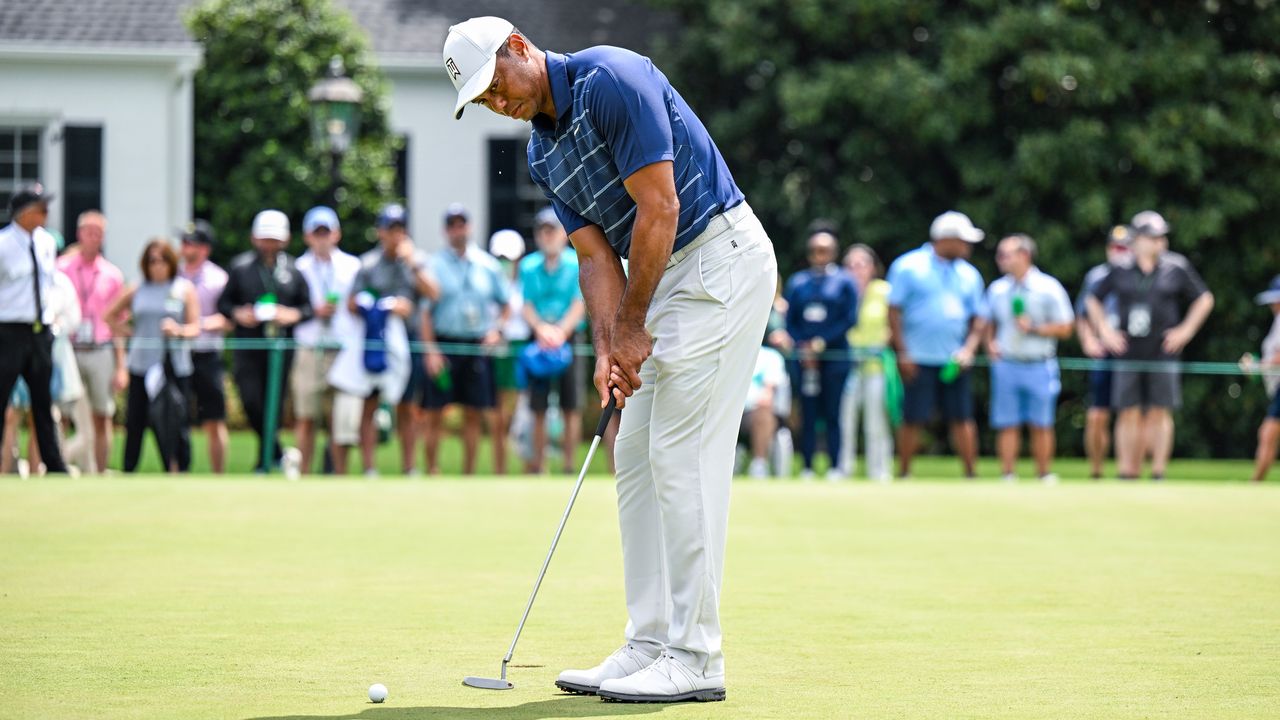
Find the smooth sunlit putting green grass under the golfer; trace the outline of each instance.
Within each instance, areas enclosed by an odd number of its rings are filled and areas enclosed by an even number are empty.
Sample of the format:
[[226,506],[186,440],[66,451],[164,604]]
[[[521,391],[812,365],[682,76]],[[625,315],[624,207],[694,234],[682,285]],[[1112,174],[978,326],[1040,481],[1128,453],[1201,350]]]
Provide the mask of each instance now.
[[[928,466],[954,474],[951,460]],[[613,650],[625,621],[613,487],[593,478],[516,651],[516,689],[463,688],[463,675],[498,673],[570,488],[0,479],[0,717],[1198,720],[1280,708],[1280,491],[1222,482],[740,480],[728,701],[659,707],[552,685]],[[375,682],[387,705],[367,703]]]

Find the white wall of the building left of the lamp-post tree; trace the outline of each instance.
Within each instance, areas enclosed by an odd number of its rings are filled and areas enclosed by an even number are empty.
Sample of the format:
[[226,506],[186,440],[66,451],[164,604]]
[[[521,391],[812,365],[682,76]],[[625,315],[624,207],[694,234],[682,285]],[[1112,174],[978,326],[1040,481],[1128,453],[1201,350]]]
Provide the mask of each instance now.
[[[131,279],[147,238],[172,236],[189,220],[195,64],[193,55],[136,61],[0,55],[0,124],[46,127],[41,173],[51,192],[61,190],[61,126],[102,127],[105,252]],[[74,228],[60,224],[55,200],[50,225],[70,240]]]

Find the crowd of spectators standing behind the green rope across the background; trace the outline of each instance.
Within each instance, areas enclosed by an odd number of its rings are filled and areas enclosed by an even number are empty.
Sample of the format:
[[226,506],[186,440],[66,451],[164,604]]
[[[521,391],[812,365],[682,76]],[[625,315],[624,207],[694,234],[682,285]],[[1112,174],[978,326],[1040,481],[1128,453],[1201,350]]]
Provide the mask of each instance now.
[[[494,473],[507,471],[508,451],[526,473],[547,471],[553,446],[556,469],[573,471],[590,395],[575,351],[586,316],[577,256],[554,211],[536,215],[532,243],[499,231],[481,246],[458,205],[447,210],[444,246],[434,254],[420,250],[407,227],[406,209],[387,205],[376,219],[378,245],[356,256],[343,249],[338,214],[317,206],[302,219],[306,251],[294,259],[285,252],[289,218],[264,210],[250,229],[252,250],[223,270],[210,260],[211,227],[197,220],[177,251],[168,238],[148,242],[141,282],[129,284],[102,254],[106,218],[83,213],[77,242],[58,258],[46,297],[37,300],[52,320],[50,391],[65,457],[88,473],[113,466],[114,401],[123,392],[124,471],[137,469],[148,428],[161,465],[187,470],[188,420],[207,438],[212,471],[238,470],[228,466],[229,351],[239,404],[259,439],[244,469],[346,474],[358,447],[360,469],[375,475],[376,445],[393,425],[401,470],[435,474],[445,413],[458,406],[463,473],[476,471],[485,433]],[[936,218],[928,241],[887,273],[865,245],[850,246],[841,263],[836,231],[817,223],[808,266],[780,282],[745,400],[741,469],[755,478],[787,475],[796,446],[801,478],[824,466],[838,482],[859,474],[861,448],[867,478],[908,478],[922,433],[941,419],[963,474],[974,477],[972,375],[984,354],[1000,474],[1018,479],[1025,428],[1036,477],[1053,483],[1057,343],[1076,334],[1087,356],[1107,361],[1089,374],[1084,446],[1092,477],[1103,474],[1115,414],[1117,477],[1138,478],[1149,460],[1149,477],[1162,479],[1180,405],[1179,357],[1213,307],[1196,269],[1169,250],[1169,232],[1155,211],[1116,225],[1103,241],[1106,261],[1088,272],[1073,304],[1037,266],[1036,241],[1024,233],[996,243],[1001,275],[987,284],[969,263],[986,233],[963,213]],[[1262,374],[1276,396],[1280,278],[1257,301],[1277,319],[1262,356],[1247,355],[1240,368]],[[173,397],[180,406],[164,407]],[[0,470],[40,468],[35,439],[26,461],[15,447],[29,406],[18,379]],[[292,445],[276,434],[285,415]],[[1258,430],[1256,479],[1277,445],[1280,398]],[[819,451],[824,465],[815,462]]]

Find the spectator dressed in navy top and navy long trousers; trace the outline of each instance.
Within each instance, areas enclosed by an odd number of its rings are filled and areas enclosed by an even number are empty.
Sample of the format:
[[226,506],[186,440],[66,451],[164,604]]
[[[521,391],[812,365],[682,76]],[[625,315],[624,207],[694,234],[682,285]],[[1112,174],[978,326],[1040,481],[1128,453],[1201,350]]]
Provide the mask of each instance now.
[[829,232],[809,237],[809,269],[787,282],[787,334],[795,342],[792,387],[800,389],[800,477],[813,478],[818,420],[827,432],[828,480],[841,480],[840,398],[851,363],[849,329],[858,323],[858,287],[836,264],[840,246]]

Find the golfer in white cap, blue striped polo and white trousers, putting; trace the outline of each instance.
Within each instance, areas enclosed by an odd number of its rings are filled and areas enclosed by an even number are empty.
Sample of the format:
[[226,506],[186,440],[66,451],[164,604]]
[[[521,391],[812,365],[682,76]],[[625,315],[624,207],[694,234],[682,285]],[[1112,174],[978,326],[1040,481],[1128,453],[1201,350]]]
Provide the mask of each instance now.
[[[733,445],[777,283],[773,246],[701,120],[620,47],[558,55],[509,22],[449,28],[468,102],[532,123],[529,169],[579,255],[617,439],[626,641],[557,685],[632,702],[724,700],[719,593]],[[628,273],[622,272],[628,260]]]

